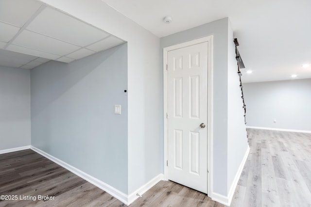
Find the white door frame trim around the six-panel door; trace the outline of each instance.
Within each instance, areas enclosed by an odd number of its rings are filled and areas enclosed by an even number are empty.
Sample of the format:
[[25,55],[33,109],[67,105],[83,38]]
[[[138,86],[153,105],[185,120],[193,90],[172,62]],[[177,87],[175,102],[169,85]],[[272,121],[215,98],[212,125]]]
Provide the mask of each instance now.
[[207,51],[207,195],[210,197],[212,192],[212,152],[213,152],[213,132],[212,132],[212,77],[213,77],[213,35],[203,37],[200,39],[192,40],[189,42],[184,42],[178,45],[173,45],[170,47],[163,48],[163,103],[164,103],[164,116],[163,116],[163,122],[164,122],[164,179],[168,180],[168,166],[167,166],[167,160],[168,160],[168,120],[167,120],[167,112],[168,112],[168,76],[167,76],[167,56],[168,52],[174,49],[178,48],[185,48],[191,45],[208,42],[208,51]]

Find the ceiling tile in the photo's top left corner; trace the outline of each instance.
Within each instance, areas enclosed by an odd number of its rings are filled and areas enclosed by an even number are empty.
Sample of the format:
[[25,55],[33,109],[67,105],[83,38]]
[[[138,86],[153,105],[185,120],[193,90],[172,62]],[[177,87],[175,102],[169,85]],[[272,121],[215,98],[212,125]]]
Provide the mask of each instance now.
[[0,0],[0,21],[22,27],[41,5],[36,0]]

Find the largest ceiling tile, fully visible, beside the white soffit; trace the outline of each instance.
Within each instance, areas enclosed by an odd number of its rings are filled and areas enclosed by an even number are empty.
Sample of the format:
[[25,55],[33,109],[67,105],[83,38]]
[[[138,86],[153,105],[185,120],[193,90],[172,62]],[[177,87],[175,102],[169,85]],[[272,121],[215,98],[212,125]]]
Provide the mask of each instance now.
[[49,7],[36,16],[26,29],[81,47],[109,35],[83,21]]

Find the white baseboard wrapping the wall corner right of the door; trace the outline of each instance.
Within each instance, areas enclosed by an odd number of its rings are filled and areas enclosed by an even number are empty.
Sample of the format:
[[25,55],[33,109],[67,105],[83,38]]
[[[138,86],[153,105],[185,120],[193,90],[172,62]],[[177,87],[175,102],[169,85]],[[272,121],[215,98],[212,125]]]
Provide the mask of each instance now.
[[242,174],[245,162],[247,160],[249,150],[250,150],[250,148],[249,148],[249,146],[247,146],[246,152],[245,152],[244,157],[242,159],[242,162],[239,166],[238,172],[236,173],[234,180],[231,184],[230,190],[228,191],[228,195],[225,196],[225,195],[221,195],[219,193],[212,192],[212,196],[211,196],[212,200],[217,201],[217,202],[224,204],[226,206],[230,206],[234,192],[235,192],[235,189],[238,185],[238,182],[239,182],[240,176]]

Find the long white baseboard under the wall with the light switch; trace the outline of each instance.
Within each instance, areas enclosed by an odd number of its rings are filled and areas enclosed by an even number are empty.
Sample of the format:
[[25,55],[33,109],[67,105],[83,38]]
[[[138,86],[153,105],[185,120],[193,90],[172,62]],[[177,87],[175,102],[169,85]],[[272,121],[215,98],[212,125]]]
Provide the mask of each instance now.
[[31,146],[30,147],[32,150],[34,150],[35,152],[39,153],[40,155],[46,157],[47,159],[50,159],[52,160],[53,162],[59,164],[60,166],[66,168],[67,170],[69,170],[71,173],[75,174],[75,175],[78,175],[79,177],[82,177],[83,179],[85,179],[86,181],[92,183],[93,185],[97,186],[98,188],[102,189],[103,191],[106,191],[108,192],[110,195],[112,195],[113,197],[117,198],[118,200],[120,200],[121,202],[123,202],[125,205],[129,205],[128,203],[128,196],[115,189],[114,187],[104,183],[103,181],[91,176],[91,175],[88,175],[86,174],[85,172],[69,165],[68,163],[60,160],[60,159],[57,159],[55,157],[53,157],[52,155],[34,147],[34,146]]

